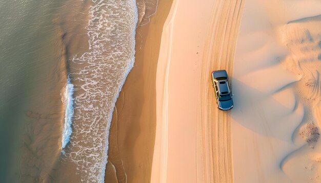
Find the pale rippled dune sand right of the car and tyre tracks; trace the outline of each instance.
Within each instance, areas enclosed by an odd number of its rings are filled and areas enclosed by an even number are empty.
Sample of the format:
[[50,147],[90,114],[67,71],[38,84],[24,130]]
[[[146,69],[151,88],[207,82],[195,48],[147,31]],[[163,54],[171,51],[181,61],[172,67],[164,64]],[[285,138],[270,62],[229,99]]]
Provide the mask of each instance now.
[[246,1],[233,77],[235,182],[321,181],[318,135],[303,131],[321,124],[321,18],[307,18],[319,14],[320,1]]

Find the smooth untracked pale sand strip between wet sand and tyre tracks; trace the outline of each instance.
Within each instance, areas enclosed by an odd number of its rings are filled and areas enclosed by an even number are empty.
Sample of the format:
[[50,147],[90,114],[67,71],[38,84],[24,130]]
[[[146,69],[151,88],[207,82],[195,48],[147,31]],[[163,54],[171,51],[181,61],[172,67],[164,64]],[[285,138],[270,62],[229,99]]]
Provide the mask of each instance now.
[[210,0],[174,0],[165,22],[151,182],[196,182],[197,92],[212,6]]

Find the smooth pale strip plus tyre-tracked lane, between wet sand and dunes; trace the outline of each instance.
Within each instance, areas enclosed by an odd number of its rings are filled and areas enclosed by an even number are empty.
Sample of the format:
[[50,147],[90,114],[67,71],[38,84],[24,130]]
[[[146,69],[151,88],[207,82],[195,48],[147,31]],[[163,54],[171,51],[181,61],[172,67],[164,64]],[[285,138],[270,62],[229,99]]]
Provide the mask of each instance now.
[[[208,115],[217,113],[208,95],[210,72],[233,63],[242,5],[242,1],[174,1],[157,64],[151,182],[233,181],[227,114]],[[232,31],[219,34],[226,29]],[[221,56],[220,62],[214,59]],[[218,122],[223,125],[217,127]]]

